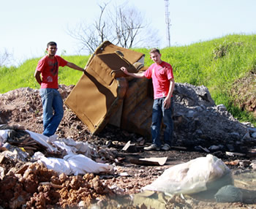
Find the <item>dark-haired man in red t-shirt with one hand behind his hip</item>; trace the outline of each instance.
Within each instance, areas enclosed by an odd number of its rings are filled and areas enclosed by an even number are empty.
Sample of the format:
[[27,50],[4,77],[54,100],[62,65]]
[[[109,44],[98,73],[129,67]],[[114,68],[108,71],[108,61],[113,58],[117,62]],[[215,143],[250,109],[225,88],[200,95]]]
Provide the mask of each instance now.
[[42,134],[50,137],[56,132],[64,115],[63,101],[58,91],[59,66],[69,66],[82,72],[84,72],[84,69],[57,56],[56,42],[49,42],[46,50],[48,54],[38,61],[34,77],[41,86],[40,96],[42,99],[44,126]]

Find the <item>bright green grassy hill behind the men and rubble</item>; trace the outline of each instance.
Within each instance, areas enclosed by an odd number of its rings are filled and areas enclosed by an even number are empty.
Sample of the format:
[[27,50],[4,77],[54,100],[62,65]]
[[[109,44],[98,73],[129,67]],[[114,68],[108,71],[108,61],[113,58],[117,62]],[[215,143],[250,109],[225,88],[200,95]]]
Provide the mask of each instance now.
[[[152,64],[148,49],[134,50],[146,54],[146,66]],[[228,35],[187,46],[166,47],[161,49],[161,53],[162,60],[173,66],[176,82],[208,87],[216,104],[225,104],[230,113],[239,120],[256,124],[252,114],[239,109],[241,105],[238,95],[236,91],[232,91],[234,83],[237,89],[239,86],[244,88],[238,80],[245,80],[250,72],[256,74],[256,35]],[[63,57],[81,67],[86,66],[89,60],[89,56]],[[18,67],[1,67],[0,93],[20,87],[39,88],[34,80],[37,61],[39,58],[27,60]],[[67,86],[75,85],[80,76],[81,72],[64,67],[59,72],[59,83]],[[253,82],[255,80],[251,79],[252,94],[255,94]],[[244,95],[239,94],[239,96]],[[250,98],[253,99],[253,95]]]

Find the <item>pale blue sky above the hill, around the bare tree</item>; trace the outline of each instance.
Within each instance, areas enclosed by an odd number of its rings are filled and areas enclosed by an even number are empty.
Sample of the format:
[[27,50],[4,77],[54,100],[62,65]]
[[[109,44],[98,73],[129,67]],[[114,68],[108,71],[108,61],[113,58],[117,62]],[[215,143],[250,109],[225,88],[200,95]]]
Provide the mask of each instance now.
[[[110,1],[110,0],[108,0]],[[58,54],[78,54],[77,41],[67,34],[82,21],[92,23],[103,0],[0,0],[0,55],[7,50],[13,64],[44,55],[47,42]],[[112,0],[121,4],[126,0]],[[151,23],[165,47],[165,0],[129,0]],[[256,34],[255,0],[169,0],[170,44],[189,45],[227,34]]]

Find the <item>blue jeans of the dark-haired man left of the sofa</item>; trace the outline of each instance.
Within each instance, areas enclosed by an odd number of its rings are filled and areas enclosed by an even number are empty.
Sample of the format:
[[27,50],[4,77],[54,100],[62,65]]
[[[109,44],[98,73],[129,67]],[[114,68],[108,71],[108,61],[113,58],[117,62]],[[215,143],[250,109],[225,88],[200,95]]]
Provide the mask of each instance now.
[[41,88],[40,96],[42,99],[42,121],[44,126],[44,132],[42,134],[50,137],[56,132],[56,129],[63,118],[63,101],[61,94],[59,94],[59,91],[56,88]]

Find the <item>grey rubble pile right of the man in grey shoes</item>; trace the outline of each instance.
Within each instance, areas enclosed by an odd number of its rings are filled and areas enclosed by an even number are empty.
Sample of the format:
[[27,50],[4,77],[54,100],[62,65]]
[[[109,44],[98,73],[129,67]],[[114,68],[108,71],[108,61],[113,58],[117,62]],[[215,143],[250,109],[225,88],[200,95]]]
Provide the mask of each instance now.
[[173,94],[177,145],[242,153],[256,145],[256,128],[233,118],[223,104],[215,105],[205,86],[176,83]]

